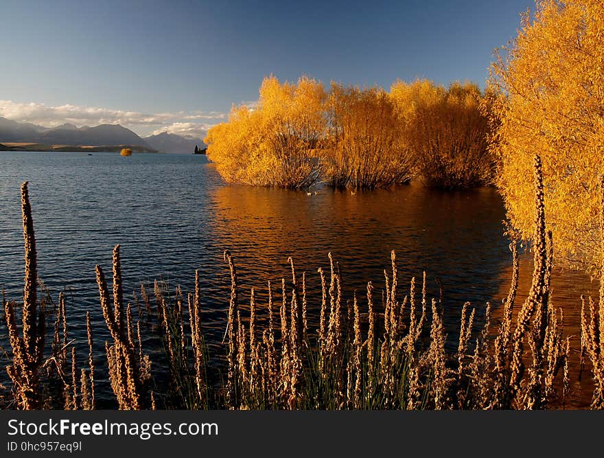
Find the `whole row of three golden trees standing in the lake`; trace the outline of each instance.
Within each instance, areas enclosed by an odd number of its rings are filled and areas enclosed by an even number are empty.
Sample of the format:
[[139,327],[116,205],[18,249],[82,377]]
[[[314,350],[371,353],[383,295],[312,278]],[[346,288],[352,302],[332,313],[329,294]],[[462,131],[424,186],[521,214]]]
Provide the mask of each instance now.
[[474,84],[449,89],[419,80],[329,93],[307,77],[262,82],[254,108],[233,106],[209,130],[208,158],[223,179],[248,185],[374,189],[418,177],[447,189],[488,184],[483,95]]

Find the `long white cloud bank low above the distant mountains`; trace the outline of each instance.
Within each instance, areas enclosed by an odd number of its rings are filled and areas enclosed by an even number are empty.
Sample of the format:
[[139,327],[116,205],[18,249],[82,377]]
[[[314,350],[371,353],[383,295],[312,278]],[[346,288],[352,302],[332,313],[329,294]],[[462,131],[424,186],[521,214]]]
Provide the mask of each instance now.
[[[0,100],[0,116],[18,122],[32,122],[45,127],[69,123],[75,126],[96,126],[98,124],[121,124],[140,135],[150,132],[179,133],[195,135],[205,132],[213,124],[227,118],[225,113],[216,111],[178,111],[174,113],[141,113],[138,111],[112,110],[93,106],[65,104],[49,106],[40,103],[19,103]],[[195,122],[197,121],[197,122]],[[213,122],[212,122],[213,121]]]

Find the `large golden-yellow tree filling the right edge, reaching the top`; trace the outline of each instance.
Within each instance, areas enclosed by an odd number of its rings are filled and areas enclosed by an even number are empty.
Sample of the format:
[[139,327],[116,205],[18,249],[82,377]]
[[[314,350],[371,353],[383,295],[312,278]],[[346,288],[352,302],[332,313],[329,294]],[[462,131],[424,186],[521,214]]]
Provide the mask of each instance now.
[[601,266],[598,211],[604,142],[604,3],[544,0],[493,64],[502,89],[492,150],[513,226],[532,231],[531,161],[543,160],[547,226],[559,260]]

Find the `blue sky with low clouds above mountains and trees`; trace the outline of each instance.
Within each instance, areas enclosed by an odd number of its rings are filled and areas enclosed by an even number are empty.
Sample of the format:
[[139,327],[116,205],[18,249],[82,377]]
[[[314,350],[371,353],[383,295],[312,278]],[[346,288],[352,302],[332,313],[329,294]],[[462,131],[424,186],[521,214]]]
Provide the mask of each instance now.
[[[0,116],[202,133],[262,78],[483,85],[532,0],[1,0]],[[179,130],[180,129],[180,130]]]

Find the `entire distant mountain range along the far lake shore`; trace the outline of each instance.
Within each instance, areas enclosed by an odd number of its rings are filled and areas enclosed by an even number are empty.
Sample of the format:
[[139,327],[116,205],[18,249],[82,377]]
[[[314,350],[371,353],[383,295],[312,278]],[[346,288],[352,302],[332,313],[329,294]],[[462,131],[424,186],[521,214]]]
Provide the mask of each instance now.
[[48,128],[4,117],[0,117],[0,144],[5,145],[5,148],[0,149],[14,149],[6,144],[36,144],[40,147],[61,146],[60,150],[63,151],[69,150],[69,146],[111,146],[113,149],[115,146],[131,146],[140,151],[181,153],[192,153],[196,145],[205,148],[201,139],[165,132],[143,138],[119,124],[101,124],[95,127],[62,124]]

